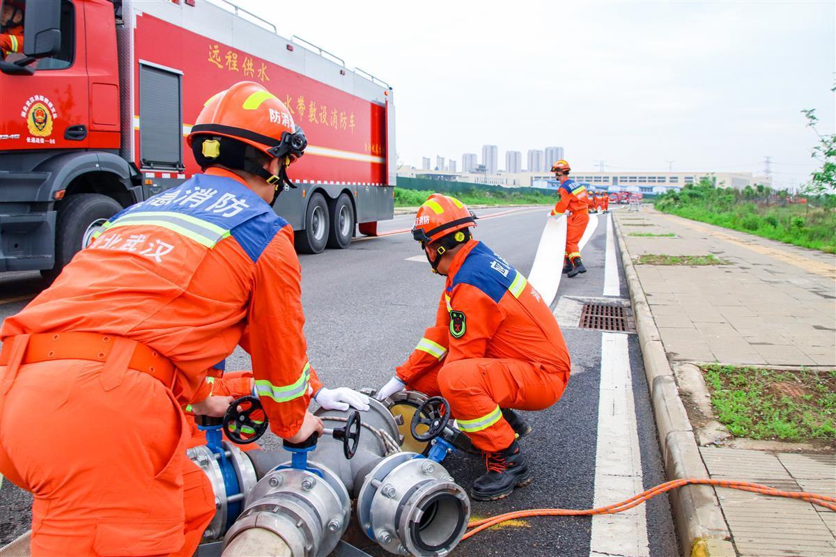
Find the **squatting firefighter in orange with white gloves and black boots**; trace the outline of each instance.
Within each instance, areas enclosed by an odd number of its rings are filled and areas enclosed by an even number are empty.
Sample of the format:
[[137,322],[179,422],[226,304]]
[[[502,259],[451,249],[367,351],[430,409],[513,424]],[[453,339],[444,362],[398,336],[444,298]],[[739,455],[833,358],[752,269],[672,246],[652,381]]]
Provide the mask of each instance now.
[[558,401],[569,377],[563,335],[525,276],[472,240],[470,211],[453,197],[431,195],[412,235],[433,271],[446,276],[436,323],[426,330],[378,398],[405,388],[449,401],[458,428],[486,455],[487,473],[471,496],[501,499],[531,480],[517,443],[530,431],[520,410]]

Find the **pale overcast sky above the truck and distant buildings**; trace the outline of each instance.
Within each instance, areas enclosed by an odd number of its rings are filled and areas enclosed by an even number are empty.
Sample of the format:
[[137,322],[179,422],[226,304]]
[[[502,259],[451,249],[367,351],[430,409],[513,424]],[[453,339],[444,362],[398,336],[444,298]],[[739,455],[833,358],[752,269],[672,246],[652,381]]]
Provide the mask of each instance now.
[[806,180],[833,133],[826,2],[237,0],[391,84],[402,163],[560,145],[574,169],[763,170]]

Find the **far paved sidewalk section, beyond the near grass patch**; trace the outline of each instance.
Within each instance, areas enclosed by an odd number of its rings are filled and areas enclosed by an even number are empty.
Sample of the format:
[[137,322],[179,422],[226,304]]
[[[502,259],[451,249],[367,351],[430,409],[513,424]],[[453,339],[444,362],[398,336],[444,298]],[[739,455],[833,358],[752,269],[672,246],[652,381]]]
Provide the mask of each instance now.
[[634,258],[711,254],[729,262],[636,266],[671,360],[836,366],[836,256],[655,210],[616,218]]

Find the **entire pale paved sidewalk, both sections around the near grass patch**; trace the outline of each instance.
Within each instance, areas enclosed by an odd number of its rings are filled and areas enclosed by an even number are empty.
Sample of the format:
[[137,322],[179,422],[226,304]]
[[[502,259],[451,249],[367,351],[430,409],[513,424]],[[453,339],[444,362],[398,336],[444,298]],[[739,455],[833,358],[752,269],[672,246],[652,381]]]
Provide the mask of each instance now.
[[[683,362],[836,367],[836,256],[646,207],[638,213],[615,211],[614,218],[634,261],[642,254],[711,254],[727,262],[635,266],[671,367]],[[792,448],[778,443],[772,449],[781,452],[714,443],[698,447],[711,478],[836,497],[833,452],[790,453]],[[797,499],[734,489],[719,488],[716,494],[741,557],[836,555],[836,513]]]

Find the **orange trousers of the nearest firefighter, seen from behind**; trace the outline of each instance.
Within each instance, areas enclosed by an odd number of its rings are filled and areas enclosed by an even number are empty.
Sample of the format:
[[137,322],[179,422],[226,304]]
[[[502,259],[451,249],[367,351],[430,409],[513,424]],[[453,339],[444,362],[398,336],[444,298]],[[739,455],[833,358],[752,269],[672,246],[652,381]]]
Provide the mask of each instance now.
[[193,554],[215,505],[188,437],[171,390],[146,373],[20,366],[0,396],[0,472],[34,494],[32,555]]

